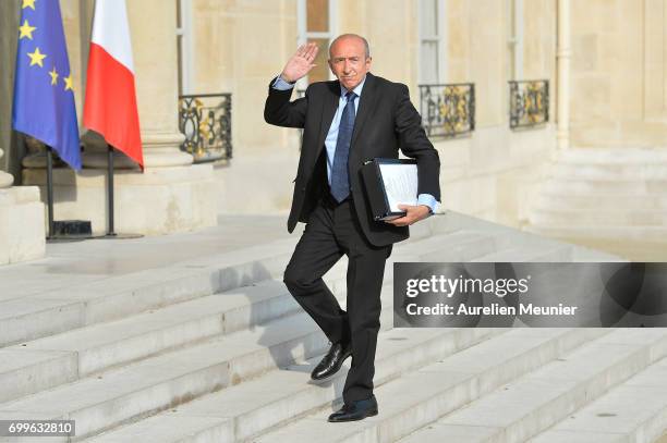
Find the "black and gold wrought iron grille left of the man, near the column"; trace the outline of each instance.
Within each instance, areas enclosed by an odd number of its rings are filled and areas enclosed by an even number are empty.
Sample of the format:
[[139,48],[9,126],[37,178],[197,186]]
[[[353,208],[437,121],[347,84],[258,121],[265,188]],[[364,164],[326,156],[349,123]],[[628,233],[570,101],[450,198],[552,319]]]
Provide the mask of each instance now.
[[180,96],[179,130],[195,163],[231,159],[231,94]]

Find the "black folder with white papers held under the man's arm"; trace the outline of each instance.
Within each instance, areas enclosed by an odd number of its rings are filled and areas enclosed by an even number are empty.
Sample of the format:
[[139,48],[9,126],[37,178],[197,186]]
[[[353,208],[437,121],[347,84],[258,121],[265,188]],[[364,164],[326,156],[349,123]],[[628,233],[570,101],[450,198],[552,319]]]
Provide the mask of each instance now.
[[[410,159],[383,159],[375,158],[364,162],[361,168],[362,182],[366,189],[366,196],[371,205],[371,212],[374,220],[393,220],[405,216],[405,211],[392,210],[387,193],[387,186],[392,184],[387,181],[391,177],[383,176],[383,165],[396,165],[401,169],[402,179],[407,180],[414,187],[414,201],[416,201],[416,160]],[[404,168],[403,168],[404,165]]]

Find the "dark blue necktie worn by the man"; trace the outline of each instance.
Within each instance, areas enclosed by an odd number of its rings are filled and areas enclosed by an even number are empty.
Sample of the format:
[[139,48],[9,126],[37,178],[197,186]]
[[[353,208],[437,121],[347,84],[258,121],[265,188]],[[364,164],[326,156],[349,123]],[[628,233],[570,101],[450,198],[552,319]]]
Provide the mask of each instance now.
[[338,139],[336,140],[336,153],[331,167],[331,195],[336,201],[341,202],[350,195],[350,177],[348,176],[348,158],[350,157],[350,141],[354,128],[354,99],[356,94],[345,94],[348,103],[343,109],[340,125],[338,126]]

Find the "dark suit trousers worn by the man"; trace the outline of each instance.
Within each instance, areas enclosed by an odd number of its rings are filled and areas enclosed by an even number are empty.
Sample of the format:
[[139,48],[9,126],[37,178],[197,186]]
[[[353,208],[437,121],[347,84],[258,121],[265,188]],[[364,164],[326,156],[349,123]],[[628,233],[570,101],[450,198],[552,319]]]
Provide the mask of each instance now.
[[[284,271],[288,290],[329,341],[352,344],[345,403],[373,395],[380,290],[391,248],[368,243],[350,198],[338,204],[327,194],[311,213]],[[348,256],[347,311],[322,279],[343,254]]]

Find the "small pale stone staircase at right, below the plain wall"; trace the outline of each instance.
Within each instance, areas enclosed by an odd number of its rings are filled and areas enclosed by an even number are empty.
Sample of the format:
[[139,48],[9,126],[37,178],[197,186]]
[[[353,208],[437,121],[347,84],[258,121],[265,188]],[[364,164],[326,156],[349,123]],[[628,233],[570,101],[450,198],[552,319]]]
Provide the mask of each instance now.
[[667,149],[560,152],[526,230],[633,261],[667,258]]

